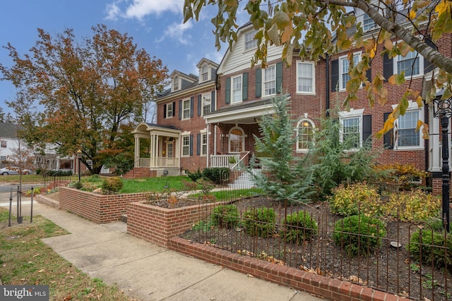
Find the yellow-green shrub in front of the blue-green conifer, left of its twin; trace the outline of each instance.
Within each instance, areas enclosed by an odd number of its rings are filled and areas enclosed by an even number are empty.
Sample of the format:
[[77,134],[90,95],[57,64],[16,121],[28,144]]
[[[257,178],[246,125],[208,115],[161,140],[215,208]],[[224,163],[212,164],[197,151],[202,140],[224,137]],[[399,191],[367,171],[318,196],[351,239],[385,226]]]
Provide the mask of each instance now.
[[347,188],[340,185],[332,190],[333,196],[329,198],[331,212],[341,215],[366,214],[373,216],[381,214],[381,199],[375,188],[365,183],[349,185]]

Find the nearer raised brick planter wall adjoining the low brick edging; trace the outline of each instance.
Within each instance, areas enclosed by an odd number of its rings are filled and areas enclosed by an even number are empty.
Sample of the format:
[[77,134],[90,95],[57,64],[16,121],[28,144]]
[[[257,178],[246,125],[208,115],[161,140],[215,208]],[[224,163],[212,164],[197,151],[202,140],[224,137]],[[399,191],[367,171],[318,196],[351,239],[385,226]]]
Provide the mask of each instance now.
[[[168,246],[169,238],[189,230],[202,216],[210,214],[214,203],[167,209],[143,202],[127,205],[127,231],[138,238]],[[202,215],[201,215],[202,213]]]

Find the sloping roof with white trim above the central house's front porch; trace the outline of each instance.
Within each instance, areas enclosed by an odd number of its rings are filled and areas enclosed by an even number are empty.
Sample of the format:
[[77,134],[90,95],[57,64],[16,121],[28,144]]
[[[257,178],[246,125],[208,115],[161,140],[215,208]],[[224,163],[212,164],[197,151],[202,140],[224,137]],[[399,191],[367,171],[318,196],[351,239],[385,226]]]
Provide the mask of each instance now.
[[259,99],[226,106],[204,115],[207,123],[256,123],[256,118],[274,113],[272,99]]

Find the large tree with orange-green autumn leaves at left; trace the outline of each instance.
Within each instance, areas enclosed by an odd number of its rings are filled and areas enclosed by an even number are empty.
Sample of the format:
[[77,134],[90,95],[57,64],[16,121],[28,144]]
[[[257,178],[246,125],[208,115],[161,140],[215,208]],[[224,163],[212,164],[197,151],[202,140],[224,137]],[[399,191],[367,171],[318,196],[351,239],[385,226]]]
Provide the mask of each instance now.
[[73,30],[51,37],[38,29],[30,54],[20,56],[8,43],[13,66],[0,64],[0,71],[18,89],[8,106],[20,116],[26,140],[52,143],[68,156],[81,149],[83,164],[100,173],[111,164],[109,155],[133,151],[115,142],[126,134],[124,125],[142,121],[143,108],[168,75],[162,61],[138,49],[126,33],[105,25],[92,30],[93,37],[77,42]]

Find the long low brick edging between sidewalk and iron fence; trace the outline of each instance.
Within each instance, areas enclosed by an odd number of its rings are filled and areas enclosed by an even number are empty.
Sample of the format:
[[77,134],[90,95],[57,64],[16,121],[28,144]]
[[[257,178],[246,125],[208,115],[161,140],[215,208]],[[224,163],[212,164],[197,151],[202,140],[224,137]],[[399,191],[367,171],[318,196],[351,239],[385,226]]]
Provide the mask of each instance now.
[[326,300],[408,300],[405,297],[384,293],[380,290],[374,290],[373,288],[367,288],[359,284],[308,273],[307,271],[288,266],[280,266],[254,257],[234,254],[216,247],[210,247],[197,242],[189,242],[179,237],[170,238],[167,247],[170,250],[202,259],[205,262],[225,266],[234,271],[251,274],[256,278],[322,296]]

